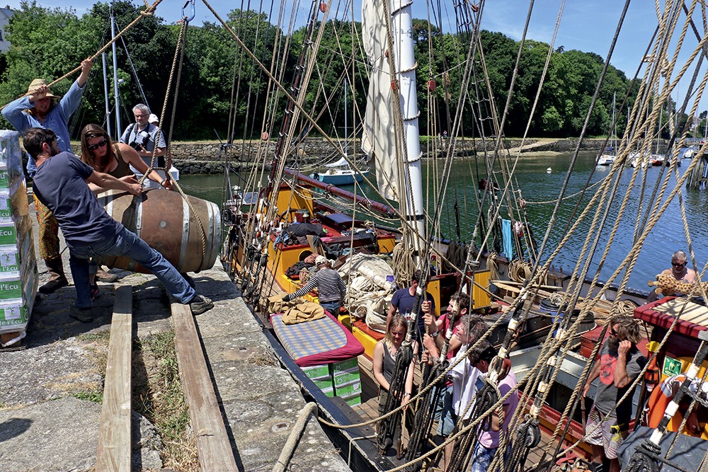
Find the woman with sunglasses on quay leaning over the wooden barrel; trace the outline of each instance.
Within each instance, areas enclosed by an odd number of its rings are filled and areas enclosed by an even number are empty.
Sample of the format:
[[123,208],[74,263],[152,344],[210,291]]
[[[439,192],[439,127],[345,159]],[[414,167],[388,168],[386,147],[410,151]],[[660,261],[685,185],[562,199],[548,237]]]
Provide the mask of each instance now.
[[[130,166],[138,172],[147,173],[147,163],[140,159],[135,149],[122,143],[112,143],[108,133],[98,125],[86,125],[81,131],[81,161],[89,164],[98,172],[108,173],[115,178],[127,182],[136,182],[135,174],[130,170]],[[164,188],[172,189],[169,180],[161,178],[159,173],[152,171],[147,176]],[[89,184],[93,192],[103,192],[103,188]]]

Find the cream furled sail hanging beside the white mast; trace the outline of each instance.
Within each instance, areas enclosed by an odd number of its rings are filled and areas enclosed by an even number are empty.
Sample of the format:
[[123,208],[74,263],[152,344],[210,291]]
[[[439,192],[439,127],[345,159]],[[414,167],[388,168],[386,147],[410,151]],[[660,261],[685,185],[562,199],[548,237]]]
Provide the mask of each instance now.
[[392,113],[392,90],[387,50],[386,22],[382,1],[363,0],[362,41],[371,65],[367,93],[362,151],[376,166],[376,180],[381,194],[400,202],[398,172],[395,166],[396,138]]

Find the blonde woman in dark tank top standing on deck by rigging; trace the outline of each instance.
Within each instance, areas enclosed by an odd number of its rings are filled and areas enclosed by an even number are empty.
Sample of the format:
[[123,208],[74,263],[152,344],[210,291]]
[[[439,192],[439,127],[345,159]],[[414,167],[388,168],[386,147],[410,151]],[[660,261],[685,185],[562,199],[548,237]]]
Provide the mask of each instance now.
[[[379,383],[379,416],[388,413],[386,410],[386,403],[389,398],[389,394],[393,393],[396,395],[396,408],[404,403],[404,412],[408,408],[408,403],[411,400],[411,393],[413,393],[413,373],[415,369],[415,364],[411,360],[411,365],[409,366],[408,372],[406,372],[406,384],[404,392],[390,392],[390,383],[392,376],[394,374],[394,367],[396,365],[396,354],[398,354],[401,349],[403,341],[406,339],[406,333],[408,332],[408,321],[401,315],[396,315],[391,321],[389,330],[386,336],[380,340],[374,346],[374,378]],[[418,350],[418,346],[413,342],[413,359],[415,359],[415,354]],[[394,432],[392,435],[387,435],[382,444],[382,449],[384,452],[392,446],[396,447],[396,455],[401,458],[404,454],[403,448],[401,447],[401,421],[396,419],[397,415],[394,415],[392,421],[394,422]],[[399,417],[398,417],[399,418]],[[380,425],[378,425],[380,427]]]

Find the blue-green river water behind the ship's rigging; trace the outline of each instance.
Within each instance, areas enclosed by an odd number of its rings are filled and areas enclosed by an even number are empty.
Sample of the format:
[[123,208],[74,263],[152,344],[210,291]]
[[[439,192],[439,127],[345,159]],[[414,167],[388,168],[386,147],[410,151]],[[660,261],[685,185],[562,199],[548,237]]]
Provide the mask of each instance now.
[[[571,158],[571,154],[563,153],[553,155],[538,154],[536,156],[525,155],[516,168],[515,181],[518,183],[516,188],[521,190],[522,197],[527,202],[527,219],[538,243],[541,243],[544,234],[546,234],[549,218],[552,215],[559,191],[566,178]],[[679,172],[685,172],[689,163],[690,160],[684,159],[683,166],[679,168]],[[474,160],[455,161],[455,163],[453,163],[452,174],[450,183],[447,186],[447,196],[445,199],[447,204],[440,205],[441,236],[455,238],[457,234],[458,220],[455,218],[452,209],[454,202],[457,202],[459,207],[459,232],[462,238],[469,240],[469,237],[472,235],[477,215],[475,195],[478,185],[476,178],[472,178],[475,166],[476,163]],[[547,172],[548,168],[551,169],[550,173]],[[598,260],[607,246],[612,224],[617,220],[619,205],[621,205],[622,198],[627,191],[629,191],[630,195],[627,210],[619,225],[617,236],[610,246],[610,252],[600,270],[600,280],[607,280],[607,278],[612,275],[612,272],[615,272],[617,265],[631,250],[640,200],[644,202],[643,212],[646,212],[646,206],[651,202],[653,186],[662,169],[663,168],[658,167],[646,169],[647,187],[644,190],[643,198],[640,179],[643,178],[644,175],[640,173],[639,179],[634,187],[629,189],[632,168],[624,169],[624,173],[620,178],[617,197],[615,197],[614,205],[610,208],[607,223],[601,233],[600,246],[598,247],[595,258],[593,258],[592,268],[588,274],[590,277],[594,275],[598,267]],[[433,182],[436,180],[435,176],[439,175],[439,172],[440,170],[433,168],[432,161],[423,162],[423,192],[426,195],[431,195],[427,198],[430,202],[437,202],[438,189],[435,188]],[[582,209],[586,207],[593,192],[597,189],[597,186],[592,187],[592,184],[598,183],[598,181],[603,178],[607,178],[609,173],[609,167],[595,166],[595,154],[584,153],[578,156],[578,161],[569,180],[566,195],[576,195],[580,192],[586,186],[586,183],[588,183],[588,178],[590,178],[589,185],[591,185],[581,205],[578,205],[578,212],[581,212]],[[432,178],[429,179],[428,175]],[[666,175],[666,171],[663,175]],[[234,178],[233,175],[232,178]],[[224,195],[223,180],[222,175],[184,175],[180,183],[189,194],[211,200],[220,205]],[[499,180],[501,180],[501,176]],[[664,195],[663,200],[666,200],[668,192],[674,185],[675,179],[670,180],[670,187]],[[352,185],[346,188],[346,190],[364,193],[368,197],[376,198],[375,192],[367,188],[367,185],[362,185],[356,189]],[[706,245],[706,241],[708,241],[708,219],[706,217],[708,191],[686,190],[683,188],[681,195],[683,195],[687,225],[698,265],[698,267],[693,267],[689,258],[689,267],[700,271],[708,260],[708,246]],[[573,221],[576,220],[577,216],[573,215],[573,210],[577,203],[577,196],[566,198],[561,203],[555,224],[549,234],[549,241],[547,243],[549,251],[546,251],[545,257],[550,255],[552,249],[557,246],[562,236],[566,234],[566,226],[571,219]],[[432,214],[433,205],[429,205],[429,212]],[[584,221],[581,221],[571,241],[561,249],[561,252],[554,260],[556,269],[562,267],[564,272],[571,272],[580,257],[581,248],[590,227],[590,218],[591,217],[588,217]],[[643,228],[644,226],[642,226],[642,229]],[[661,272],[661,270],[670,267],[671,255],[674,251],[678,250],[683,250],[688,253],[687,238],[683,229],[680,204],[677,196],[670,202],[668,209],[646,238],[636,265],[634,265],[632,270],[632,275],[629,277],[629,287],[648,291],[649,289],[646,282],[653,280],[654,275]],[[616,280],[616,282],[619,282],[619,279]]]

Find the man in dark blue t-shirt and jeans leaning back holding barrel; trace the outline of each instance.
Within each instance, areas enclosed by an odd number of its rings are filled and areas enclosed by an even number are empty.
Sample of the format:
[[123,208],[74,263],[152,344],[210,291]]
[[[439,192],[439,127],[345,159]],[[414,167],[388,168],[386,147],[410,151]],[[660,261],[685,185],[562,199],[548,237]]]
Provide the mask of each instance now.
[[76,287],[76,306],[70,313],[73,318],[84,323],[93,321],[89,258],[103,255],[125,255],[135,260],[156,275],[177,301],[189,304],[194,314],[214,306],[210,299],[196,294],[160,253],[111,218],[86,182],[132,195],[140,195],[142,185],[96,172],[74,154],[59,152],[57,135],[51,129],[30,129],[23,144],[37,163],[35,195],[52,210],[69,246],[69,266]]

